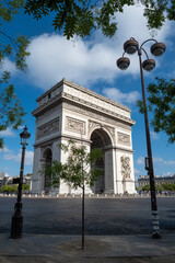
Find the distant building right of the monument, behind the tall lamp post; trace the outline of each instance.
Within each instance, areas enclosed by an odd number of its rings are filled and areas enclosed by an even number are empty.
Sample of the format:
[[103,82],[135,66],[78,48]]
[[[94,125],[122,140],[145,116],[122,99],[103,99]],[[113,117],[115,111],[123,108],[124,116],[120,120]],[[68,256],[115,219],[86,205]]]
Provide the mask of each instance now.
[[[170,176],[155,175],[155,184],[162,183],[174,183],[175,184],[175,174]],[[150,184],[149,175],[140,175],[138,179],[138,188],[141,190],[144,185]]]

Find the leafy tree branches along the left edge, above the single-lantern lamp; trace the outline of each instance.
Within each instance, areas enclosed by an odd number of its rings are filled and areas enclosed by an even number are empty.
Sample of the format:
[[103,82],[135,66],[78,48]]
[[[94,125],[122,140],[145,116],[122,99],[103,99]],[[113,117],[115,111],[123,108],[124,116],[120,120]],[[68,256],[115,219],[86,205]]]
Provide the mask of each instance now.
[[[0,3],[0,18],[3,23],[10,23],[13,16],[19,13],[19,10],[23,7],[23,0],[9,0],[1,1]],[[25,70],[25,58],[30,54],[26,52],[28,41],[25,36],[19,35],[16,38],[12,38],[7,32],[2,30],[3,24],[0,23],[0,130],[5,130],[9,126],[16,129],[22,123],[25,115],[21,103],[15,95],[13,84],[10,84],[10,72],[3,71],[3,64],[5,59],[14,59],[15,66],[20,70]],[[0,148],[3,147],[3,138],[0,138]]]

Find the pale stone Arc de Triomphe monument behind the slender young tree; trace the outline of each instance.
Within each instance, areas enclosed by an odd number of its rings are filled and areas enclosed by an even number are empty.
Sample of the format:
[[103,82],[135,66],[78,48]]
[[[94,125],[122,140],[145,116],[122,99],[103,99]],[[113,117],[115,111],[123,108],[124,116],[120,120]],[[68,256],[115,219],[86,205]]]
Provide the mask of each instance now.
[[[131,127],[135,122],[130,110],[89,89],[62,79],[37,99],[36,138],[32,192],[58,191],[74,193],[63,182],[52,190],[49,178],[40,175],[44,163],[51,160],[63,162],[67,158],[58,142],[74,139],[85,144],[88,150],[101,147],[100,163],[103,175],[95,182],[93,193],[135,193]],[[77,190],[77,193],[79,190]]]

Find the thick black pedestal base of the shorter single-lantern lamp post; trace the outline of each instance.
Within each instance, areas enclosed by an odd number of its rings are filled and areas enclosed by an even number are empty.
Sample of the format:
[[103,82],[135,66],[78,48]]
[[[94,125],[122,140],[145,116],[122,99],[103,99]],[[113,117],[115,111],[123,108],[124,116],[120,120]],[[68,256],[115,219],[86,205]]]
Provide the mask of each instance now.
[[13,216],[12,225],[11,225],[11,239],[19,239],[22,237],[23,231],[23,217],[22,216]]

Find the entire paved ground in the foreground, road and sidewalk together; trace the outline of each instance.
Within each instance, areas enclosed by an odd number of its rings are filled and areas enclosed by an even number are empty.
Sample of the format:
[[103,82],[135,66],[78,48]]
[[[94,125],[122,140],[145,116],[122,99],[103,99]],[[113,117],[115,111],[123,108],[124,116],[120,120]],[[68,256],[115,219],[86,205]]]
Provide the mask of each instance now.
[[150,198],[23,198],[24,233],[10,240],[14,197],[0,197],[1,263],[174,263],[174,197],[158,198],[162,239],[151,237]]

